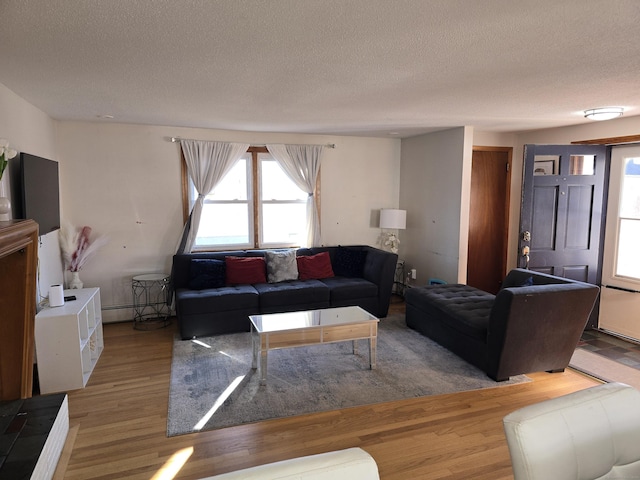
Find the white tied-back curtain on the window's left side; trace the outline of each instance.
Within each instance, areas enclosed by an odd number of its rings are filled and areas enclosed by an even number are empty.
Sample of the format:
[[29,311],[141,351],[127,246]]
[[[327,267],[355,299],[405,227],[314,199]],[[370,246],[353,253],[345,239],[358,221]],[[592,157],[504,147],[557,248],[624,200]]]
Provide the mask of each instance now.
[[249,148],[248,143],[205,142],[180,140],[187,173],[198,192],[189,219],[184,225],[178,253],[191,252],[196,242],[204,197],[222,180],[225,174]]

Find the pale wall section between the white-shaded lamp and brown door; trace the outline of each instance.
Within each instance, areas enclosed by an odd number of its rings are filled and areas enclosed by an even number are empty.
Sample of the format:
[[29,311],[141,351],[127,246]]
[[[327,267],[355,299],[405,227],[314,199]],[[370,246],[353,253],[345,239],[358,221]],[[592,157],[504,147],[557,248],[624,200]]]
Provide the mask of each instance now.
[[472,139],[460,127],[402,140],[399,254],[417,270],[416,284],[464,281],[461,271],[466,278]]

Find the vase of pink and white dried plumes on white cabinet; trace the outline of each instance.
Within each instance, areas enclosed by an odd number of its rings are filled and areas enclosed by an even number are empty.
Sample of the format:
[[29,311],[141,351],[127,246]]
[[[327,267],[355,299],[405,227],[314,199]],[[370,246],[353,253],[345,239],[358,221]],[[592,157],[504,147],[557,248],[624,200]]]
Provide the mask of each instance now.
[[62,259],[65,268],[71,272],[69,288],[82,288],[80,269],[107,240],[102,235],[91,238],[91,227],[77,228],[69,224],[62,225],[59,236]]

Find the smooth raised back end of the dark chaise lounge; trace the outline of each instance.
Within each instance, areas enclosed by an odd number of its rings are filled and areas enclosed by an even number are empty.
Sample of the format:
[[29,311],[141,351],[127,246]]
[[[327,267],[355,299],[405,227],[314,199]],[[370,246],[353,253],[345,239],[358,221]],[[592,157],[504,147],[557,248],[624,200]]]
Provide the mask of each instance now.
[[595,285],[573,282],[503,288],[487,332],[487,374],[563,370],[598,296]]

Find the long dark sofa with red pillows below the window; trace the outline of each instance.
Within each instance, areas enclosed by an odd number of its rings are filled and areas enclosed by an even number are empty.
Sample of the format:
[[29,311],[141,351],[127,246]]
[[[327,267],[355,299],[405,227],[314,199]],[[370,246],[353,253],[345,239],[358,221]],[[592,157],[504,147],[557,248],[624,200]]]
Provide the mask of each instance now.
[[[328,255],[331,271],[305,267],[305,279],[269,282],[269,279],[277,280],[278,276],[272,275],[267,268],[267,281],[247,284],[238,283],[241,278],[230,278],[230,271],[226,272],[226,278],[218,278],[217,283],[214,278],[223,275],[220,269],[224,271],[225,267],[222,264],[230,259],[241,262],[241,258],[262,257],[270,267],[270,259],[288,253],[307,257],[308,261],[318,257],[326,259]],[[357,305],[378,318],[385,317],[397,259],[394,253],[366,245],[303,248],[295,252],[274,249],[174,255],[172,287],[180,336],[186,340],[248,331],[248,317],[257,313]],[[217,270],[205,276],[209,280],[214,278],[213,283],[199,281],[203,277],[199,274],[202,263],[198,262],[202,260],[209,264],[212,263],[210,260],[217,260],[213,265]],[[300,266],[308,264],[300,263]],[[322,278],[307,278],[309,276]]]

